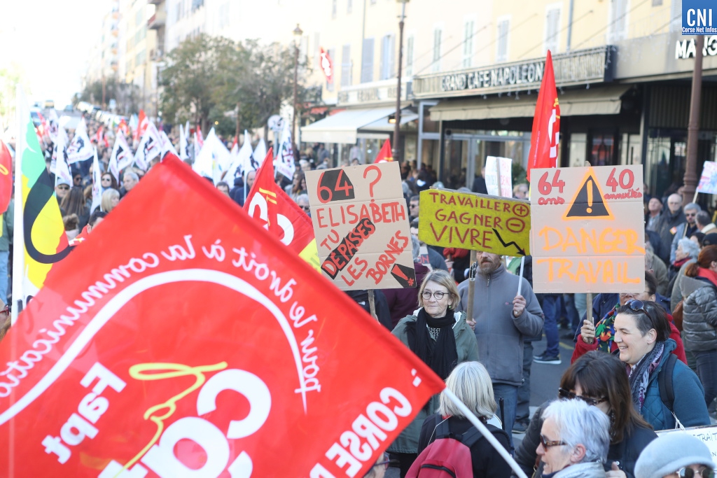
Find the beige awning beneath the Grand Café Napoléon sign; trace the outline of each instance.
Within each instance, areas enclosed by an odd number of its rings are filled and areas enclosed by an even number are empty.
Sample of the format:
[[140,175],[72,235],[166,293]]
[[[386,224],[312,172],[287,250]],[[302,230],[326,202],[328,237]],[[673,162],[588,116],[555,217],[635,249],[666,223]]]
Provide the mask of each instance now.
[[[561,116],[617,115],[622,105],[620,97],[630,85],[593,87],[589,90],[570,90],[558,94]],[[446,100],[430,109],[432,121],[490,120],[499,118],[528,118],[535,114],[537,92],[521,92],[511,96],[488,99]]]

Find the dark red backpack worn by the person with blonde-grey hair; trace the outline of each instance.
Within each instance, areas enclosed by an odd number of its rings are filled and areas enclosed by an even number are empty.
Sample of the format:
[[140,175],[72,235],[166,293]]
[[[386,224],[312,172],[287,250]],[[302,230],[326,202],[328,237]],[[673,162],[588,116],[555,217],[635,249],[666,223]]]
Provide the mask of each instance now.
[[[448,420],[436,415],[436,439],[424,449],[408,470],[407,478],[473,478],[470,447],[483,438],[471,427],[465,434],[452,434]],[[441,421],[442,420],[442,421]]]

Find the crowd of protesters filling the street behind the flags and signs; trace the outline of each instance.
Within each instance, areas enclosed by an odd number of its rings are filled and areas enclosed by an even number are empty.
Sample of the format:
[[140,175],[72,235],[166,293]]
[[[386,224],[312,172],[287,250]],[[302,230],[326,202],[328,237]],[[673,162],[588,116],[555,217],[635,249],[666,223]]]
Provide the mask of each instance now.
[[[110,131],[95,138],[101,125],[89,115],[86,120],[88,135],[98,148],[102,197],[100,208],[90,211],[91,161],[72,166],[72,181],[55,182],[71,244],[86,239],[146,173],[128,167],[115,178],[108,170],[113,135]],[[168,138],[179,143],[171,133]],[[229,146],[228,139],[224,143]],[[49,138],[44,138],[42,148],[49,171]],[[187,148],[191,163],[191,138]],[[150,168],[158,161],[153,160]],[[293,178],[279,175],[277,183],[310,215],[305,173],[331,167],[332,162],[328,150],[317,143],[301,151]],[[354,158],[339,166],[357,163]],[[516,457],[526,475],[714,476],[711,470],[716,465],[700,440],[682,431],[659,438],[655,433],[710,425],[708,408],[713,410],[717,398],[717,228],[698,204],[683,206],[678,192],[665,198],[645,195],[644,292],[599,294],[590,305],[582,294],[536,295],[531,257],[523,259],[523,276],[519,277],[520,260],[506,263],[496,254],[478,251],[475,292],[469,295],[470,251],[435,247],[418,238],[420,193],[444,187],[437,173],[416,161],[402,163],[401,173],[419,287],[375,290],[374,313],[446,380],[500,446]],[[226,178],[216,187],[243,206],[254,178],[252,171],[245,177]],[[458,181],[465,184],[465,175]],[[459,191],[488,192],[482,176],[475,178],[471,188]],[[518,183],[513,192],[516,199],[526,199],[528,187]],[[11,203],[0,237],[4,267],[11,246],[12,211]],[[8,271],[0,268],[3,272],[0,300],[6,303]],[[347,293],[370,310],[367,291]],[[469,297],[473,304],[468,303]],[[587,307],[592,309],[592,319]],[[472,310],[470,316],[468,310]],[[8,317],[7,308],[0,310],[0,321],[7,322]],[[531,416],[531,363],[561,363],[559,328],[565,329],[564,338],[574,339],[571,365],[561,377],[555,398]],[[546,350],[533,355],[533,342],[543,333]],[[524,434],[523,439],[515,444],[513,434]],[[428,457],[441,458],[434,444],[444,438],[463,441],[470,449],[470,463],[463,465],[473,477],[511,476],[498,450],[445,396],[429,400],[389,446],[389,455],[381,457],[367,476],[383,476],[389,462],[398,465],[402,478],[422,476]]]

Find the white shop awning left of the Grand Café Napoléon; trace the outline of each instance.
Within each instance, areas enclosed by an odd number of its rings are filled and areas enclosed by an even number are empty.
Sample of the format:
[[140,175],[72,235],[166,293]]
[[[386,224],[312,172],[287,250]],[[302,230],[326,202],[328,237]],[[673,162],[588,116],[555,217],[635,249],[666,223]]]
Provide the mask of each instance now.
[[[356,143],[359,128],[386,118],[396,108],[371,110],[346,110],[301,128],[301,140],[305,143]],[[403,122],[402,122],[403,123]]]

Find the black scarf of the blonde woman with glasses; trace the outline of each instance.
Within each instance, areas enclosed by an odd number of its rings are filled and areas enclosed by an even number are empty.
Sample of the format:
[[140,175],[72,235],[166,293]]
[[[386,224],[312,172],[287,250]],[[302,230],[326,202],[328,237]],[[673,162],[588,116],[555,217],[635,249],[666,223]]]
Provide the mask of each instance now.
[[[416,322],[410,324],[413,327],[407,327],[408,343],[413,353],[443,380],[458,365],[458,351],[453,335],[454,324],[455,317],[452,310],[446,310],[445,317],[435,319],[421,309],[418,311]],[[428,327],[440,329],[437,340],[431,338]]]

